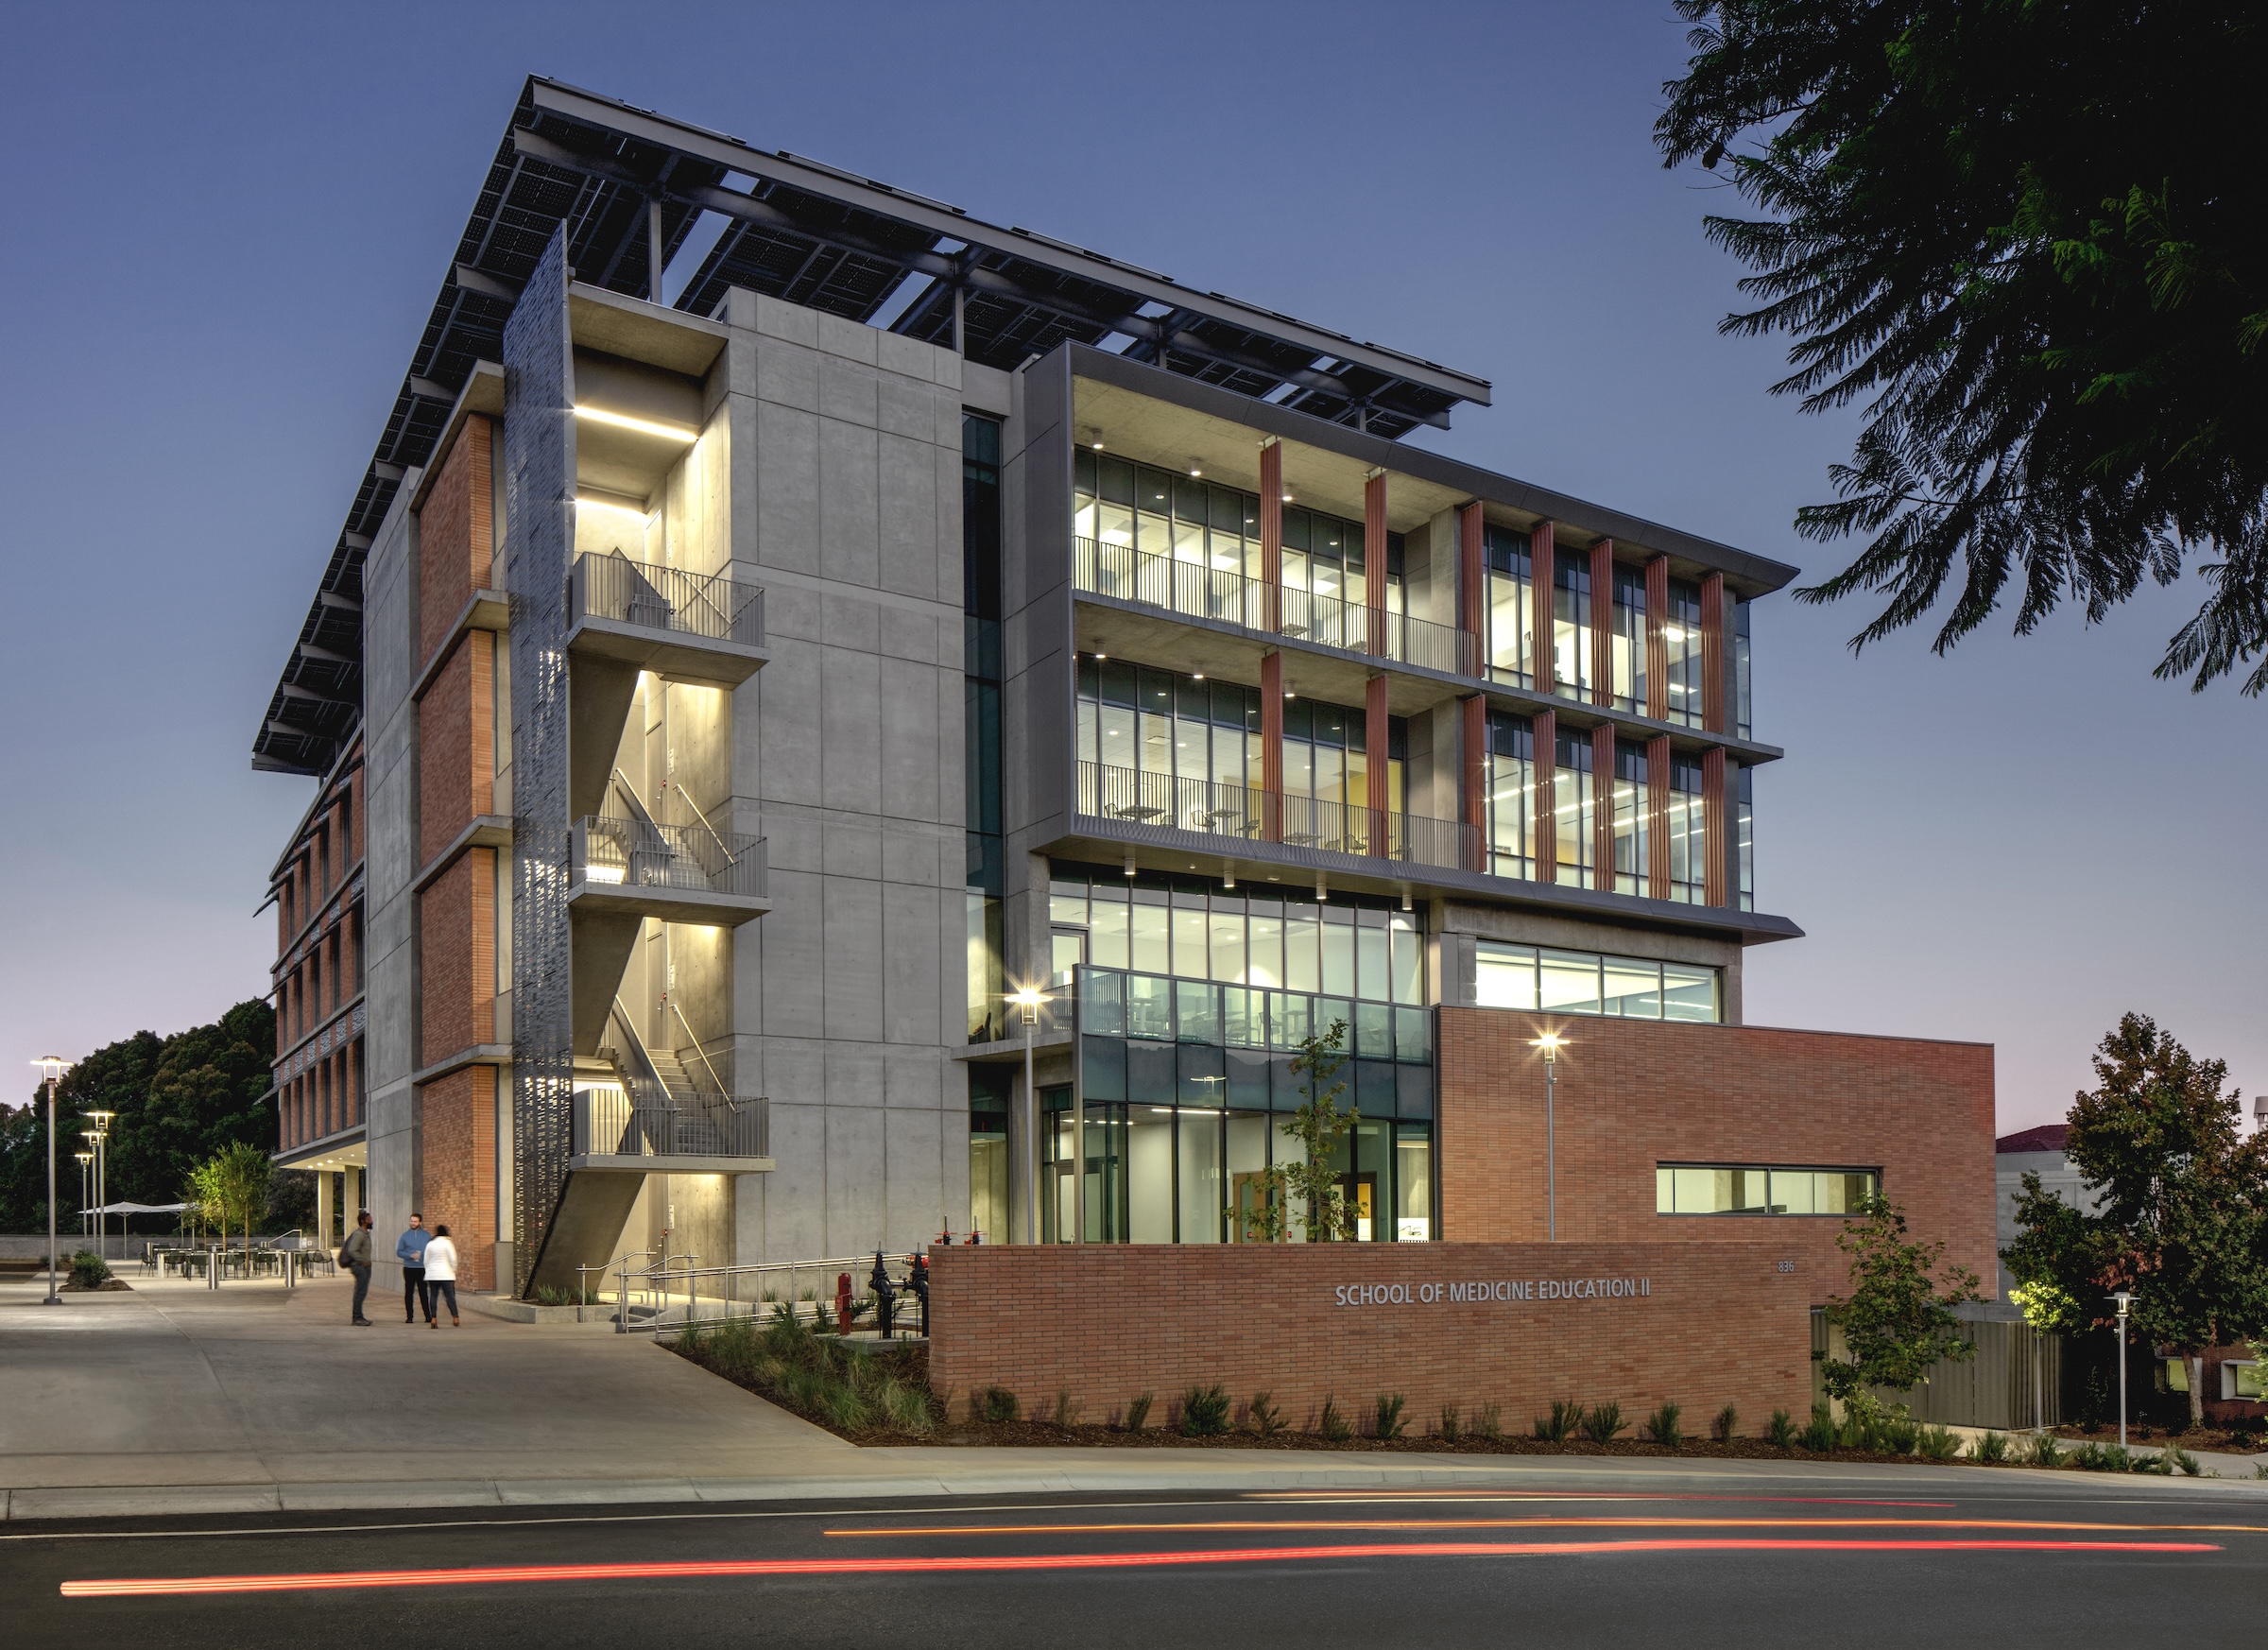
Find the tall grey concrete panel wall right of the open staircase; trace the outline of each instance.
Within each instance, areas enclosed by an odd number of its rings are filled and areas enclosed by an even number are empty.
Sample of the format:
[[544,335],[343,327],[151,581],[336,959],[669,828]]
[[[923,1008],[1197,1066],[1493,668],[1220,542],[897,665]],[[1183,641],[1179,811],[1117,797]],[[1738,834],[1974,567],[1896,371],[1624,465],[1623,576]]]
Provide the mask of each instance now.
[[728,941],[730,1024],[780,1165],[735,1188],[735,1253],[907,1249],[966,1208],[968,1174],[946,1151],[966,1142],[962,363],[751,292],[723,320],[712,428],[771,664],[733,694],[717,823],[769,843],[773,909]]

